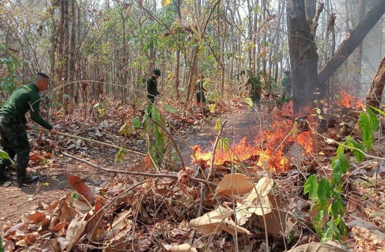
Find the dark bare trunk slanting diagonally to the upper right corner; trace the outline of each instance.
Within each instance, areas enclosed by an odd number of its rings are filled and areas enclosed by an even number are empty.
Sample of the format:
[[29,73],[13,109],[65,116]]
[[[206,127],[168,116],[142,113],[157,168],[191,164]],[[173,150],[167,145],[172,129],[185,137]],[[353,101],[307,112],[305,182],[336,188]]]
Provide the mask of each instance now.
[[350,54],[366,37],[373,26],[381,19],[385,13],[385,1],[378,0],[373,8],[366,14],[362,21],[350,33],[350,37],[345,39],[337,49],[331,61],[325,64],[318,72],[318,81],[323,84],[332,76],[340,65],[349,57]]

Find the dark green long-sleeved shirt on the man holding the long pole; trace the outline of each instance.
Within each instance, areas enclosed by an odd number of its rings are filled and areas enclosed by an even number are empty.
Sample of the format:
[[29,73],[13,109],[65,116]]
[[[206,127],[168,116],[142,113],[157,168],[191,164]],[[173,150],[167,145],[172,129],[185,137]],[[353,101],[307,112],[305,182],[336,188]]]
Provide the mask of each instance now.
[[27,122],[25,114],[30,110],[29,113],[33,121],[40,126],[51,130],[53,126],[47,123],[39,114],[40,100],[41,96],[35,84],[31,83],[29,85],[23,85],[16,89],[8,98],[7,102],[1,107],[0,116],[21,117],[25,124]]

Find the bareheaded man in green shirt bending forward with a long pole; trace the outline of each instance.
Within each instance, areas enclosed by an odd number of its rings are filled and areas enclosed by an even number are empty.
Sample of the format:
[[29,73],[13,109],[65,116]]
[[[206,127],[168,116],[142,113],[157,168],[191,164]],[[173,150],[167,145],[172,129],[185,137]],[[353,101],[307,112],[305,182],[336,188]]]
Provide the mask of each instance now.
[[[26,168],[29,162],[30,145],[26,129],[29,129],[25,113],[30,111],[31,119],[40,126],[45,127],[51,134],[56,134],[56,129],[47,123],[39,114],[40,91],[47,89],[49,77],[43,73],[35,76],[33,83],[23,85],[16,89],[8,101],[0,109],[0,136],[1,146],[10,158],[17,155],[17,184],[22,186],[38,180],[38,176],[27,176]],[[0,180],[9,179],[4,171],[11,162],[0,158]]]

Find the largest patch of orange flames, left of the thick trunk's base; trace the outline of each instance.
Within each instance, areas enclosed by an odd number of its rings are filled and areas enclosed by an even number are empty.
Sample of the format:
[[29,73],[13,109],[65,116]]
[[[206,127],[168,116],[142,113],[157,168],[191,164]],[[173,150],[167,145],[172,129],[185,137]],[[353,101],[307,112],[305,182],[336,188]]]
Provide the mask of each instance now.
[[[244,137],[237,144],[230,145],[228,150],[215,151],[213,165],[226,166],[231,163],[243,164],[263,170],[285,172],[290,169],[293,159],[314,150],[314,134],[304,118],[295,119],[290,114],[291,104],[282,111],[275,110],[269,129],[262,130],[249,140]],[[214,145],[214,143],[213,143]],[[298,147],[296,151],[290,151]],[[210,148],[212,149],[212,147]],[[204,152],[200,146],[194,146],[193,160],[204,167],[210,166],[212,151]]]

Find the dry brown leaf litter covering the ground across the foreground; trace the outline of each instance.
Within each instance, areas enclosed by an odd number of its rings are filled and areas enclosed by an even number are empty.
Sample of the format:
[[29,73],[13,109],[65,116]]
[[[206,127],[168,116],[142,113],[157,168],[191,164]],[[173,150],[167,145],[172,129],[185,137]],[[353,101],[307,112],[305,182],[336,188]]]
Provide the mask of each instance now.
[[[357,122],[358,114],[342,108],[325,136],[344,140],[348,132],[357,131],[351,122]],[[340,122],[347,124],[340,126]],[[198,218],[201,186],[195,182],[186,181],[183,191],[178,181],[169,178],[117,176],[105,187],[95,188],[70,175],[68,183],[76,193],[50,205],[41,202],[18,223],[5,223],[3,245],[5,251],[234,251],[232,235],[237,231],[242,251],[266,251],[268,247],[282,251],[288,236],[293,237],[287,248],[297,246],[293,251],[345,251],[337,244],[317,243],[309,228],[317,212],[309,211],[310,201],[299,191],[304,175],[330,175],[330,157],[336,149],[332,142],[319,141],[317,151],[301,153],[294,164],[288,160],[288,172],[272,170],[269,177],[250,158],[244,161],[254,166],[244,174],[228,174],[228,169],[217,164],[214,182],[218,186],[212,188],[214,195],[209,192],[206,196],[204,214]],[[380,156],[384,154],[379,151]],[[343,240],[352,251],[381,251],[385,246],[385,186],[381,180],[385,165],[370,161],[351,166],[344,177],[349,232]],[[298,169],[293,169],[295,165]],[[155,172],[145,163],[133,170]],[[198,235],[190,247],[192,229]]]

